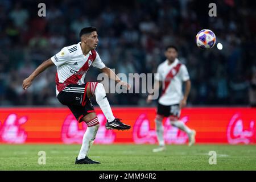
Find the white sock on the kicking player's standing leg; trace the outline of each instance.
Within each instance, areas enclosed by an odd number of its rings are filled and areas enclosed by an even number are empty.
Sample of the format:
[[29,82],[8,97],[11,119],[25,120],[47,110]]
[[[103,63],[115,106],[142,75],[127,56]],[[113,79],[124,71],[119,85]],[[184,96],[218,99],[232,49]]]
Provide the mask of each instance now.
[[84,137],[82,138],[82,147],[77,159],[84,159],[85,156],[88,155],[88,151],[90,149],[90,146],[92,146],[93,140],[96,137],[99,127],[100,125],[87,127]]

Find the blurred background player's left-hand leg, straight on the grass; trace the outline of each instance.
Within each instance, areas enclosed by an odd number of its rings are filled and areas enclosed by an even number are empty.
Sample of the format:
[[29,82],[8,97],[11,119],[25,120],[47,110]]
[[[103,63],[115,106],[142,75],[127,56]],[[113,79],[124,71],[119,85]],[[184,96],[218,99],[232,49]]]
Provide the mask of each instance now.
[[163,118],[164,117],[162,115],[158,115],[158,114],[155,117],[155,129],[156,129],[156,135],[158,137],[159,147],[154,148],[153,152],[162,152],[166,150],[166,146],[164,144],[164,137],[163,137],[163,131],[164,131]]

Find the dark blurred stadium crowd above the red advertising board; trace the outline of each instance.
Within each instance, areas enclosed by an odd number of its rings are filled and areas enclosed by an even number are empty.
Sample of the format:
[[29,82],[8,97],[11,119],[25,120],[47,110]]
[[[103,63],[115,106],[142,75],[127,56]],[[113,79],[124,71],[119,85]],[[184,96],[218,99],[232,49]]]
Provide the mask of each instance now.
[[[55,95],[55,72],[43,72],[24,92],[22,81],[64,46],[79,42],[79,31],[95,26],[97,52],[116,73],[155,73],[164,48],[174,44],[188,68],[192,90],[188,105],[256,104],[256,11],[254,1],[217,2],[217,17],[208,16],[208,1],[0,1],[1,106],[61,106]],[[216,47],[203,51],[195,36],[213,30]],[[90,68],[86,81],[96,81]],[[112,105],[146,106],[147,94],[108,94]],[[152,104],[154,105],[154,103]]]

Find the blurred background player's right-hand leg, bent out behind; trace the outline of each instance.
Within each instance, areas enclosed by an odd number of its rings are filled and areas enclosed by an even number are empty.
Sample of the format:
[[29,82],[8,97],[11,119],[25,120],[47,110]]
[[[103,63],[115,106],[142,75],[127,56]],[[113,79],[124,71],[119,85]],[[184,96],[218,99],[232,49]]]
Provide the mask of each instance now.
[[196,131],[195,130],[189,129],[189,127],[187,127],[185,125],[185,123],[183,123],[177,119],[174,119],[172,117],[170,117],[170,121],[171,121],[172,126],[175,126],[175,127],[179,128],[180,130],[185,131],[185,133],[187,133],[188,140],[189,140],[189,142],[188,142],[189,147],[192,146],[196,142],[196,140],[195,140]]

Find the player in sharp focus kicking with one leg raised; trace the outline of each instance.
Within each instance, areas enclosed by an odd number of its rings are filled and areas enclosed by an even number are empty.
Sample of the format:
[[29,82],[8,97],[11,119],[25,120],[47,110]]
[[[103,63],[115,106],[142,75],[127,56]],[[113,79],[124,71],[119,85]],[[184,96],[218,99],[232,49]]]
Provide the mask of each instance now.
[[125,125],[120,119],[115,118],[110,108],[104,85],[98,82],[84,83],[85,74],[90,65],[100,69],[122,86],[130,89],[130,85],[122,82],[115,73],[102,63],[100,56],[95,51],[98,44],[98,34],[95,27],[82,28],[78,44],[64,47],[55,56],[44,61],[35,69],[29,77],[23,81],[23,89],[32,84],[36,76],[48,67],[56,65],[56,96],[63,105],[67,105],[75,115],[78,122],[84,121],[87,124],[79,156],[75,164],[98,164],[88,158],[88,151],[96,137],[99,122],[94,111],[90,97],[95,96],[96,102],[107,118],[106,129],[129,130],[130,126]]

